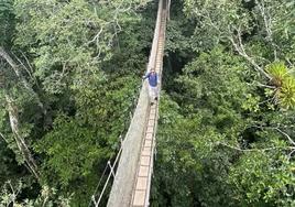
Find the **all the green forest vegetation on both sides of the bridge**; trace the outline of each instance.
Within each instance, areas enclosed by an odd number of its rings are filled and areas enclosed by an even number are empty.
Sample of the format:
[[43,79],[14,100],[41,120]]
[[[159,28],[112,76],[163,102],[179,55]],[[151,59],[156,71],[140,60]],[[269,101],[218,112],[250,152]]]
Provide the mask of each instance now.
[[[0,207],[89,205],[156,10],[0,1]],[[295,2],[173,0],[170,15],[151,206],[295,206]]]

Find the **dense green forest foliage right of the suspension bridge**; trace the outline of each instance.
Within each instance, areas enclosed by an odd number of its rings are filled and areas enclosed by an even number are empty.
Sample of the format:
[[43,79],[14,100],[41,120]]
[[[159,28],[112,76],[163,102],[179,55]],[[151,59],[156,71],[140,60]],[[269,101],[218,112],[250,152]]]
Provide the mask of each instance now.
[[152,206],[294,206],[293,1],[173,1]]

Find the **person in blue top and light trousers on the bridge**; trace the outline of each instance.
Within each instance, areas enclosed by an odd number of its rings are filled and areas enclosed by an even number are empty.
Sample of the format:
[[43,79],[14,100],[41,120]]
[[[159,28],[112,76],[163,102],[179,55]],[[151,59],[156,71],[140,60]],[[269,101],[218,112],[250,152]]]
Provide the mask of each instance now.
[[146,73],[145,76],[142,77],[142,79],[149,79],[149,96],[151,103],[153,103],[153,100],[157,100],[159,90],[159,77],[154,68],[151,68],[150,72]]

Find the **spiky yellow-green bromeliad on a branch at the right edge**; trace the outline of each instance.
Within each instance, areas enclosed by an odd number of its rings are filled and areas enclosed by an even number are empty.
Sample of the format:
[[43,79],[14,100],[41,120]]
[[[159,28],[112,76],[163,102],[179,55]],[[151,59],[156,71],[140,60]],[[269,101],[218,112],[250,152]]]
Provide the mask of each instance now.
[[275,103],[285,109],[295,108],[295,78],[293,69],[288,69],[284,63],[274,62],[266,66],[266,72],[271,75],[271,85],[274,86],[272,95]]

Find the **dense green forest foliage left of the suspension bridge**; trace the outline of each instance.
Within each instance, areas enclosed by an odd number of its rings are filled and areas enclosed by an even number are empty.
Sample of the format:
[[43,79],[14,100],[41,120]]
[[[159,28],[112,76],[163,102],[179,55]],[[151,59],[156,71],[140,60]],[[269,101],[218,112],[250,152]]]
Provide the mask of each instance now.
[[0,206],[88,205],[129,124],[155,8],[0,2]]

